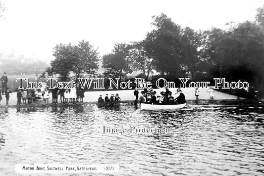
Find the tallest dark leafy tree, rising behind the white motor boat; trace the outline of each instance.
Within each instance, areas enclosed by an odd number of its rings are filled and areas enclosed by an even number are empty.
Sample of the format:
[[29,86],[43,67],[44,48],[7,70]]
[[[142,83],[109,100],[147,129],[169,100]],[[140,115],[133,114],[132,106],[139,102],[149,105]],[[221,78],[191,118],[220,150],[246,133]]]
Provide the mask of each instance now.
[[153,31],[147,34],[146,51],[154,59],[154,65],[161,74],[176,74],[180,69],[181,27],[165,14],[154,16]]

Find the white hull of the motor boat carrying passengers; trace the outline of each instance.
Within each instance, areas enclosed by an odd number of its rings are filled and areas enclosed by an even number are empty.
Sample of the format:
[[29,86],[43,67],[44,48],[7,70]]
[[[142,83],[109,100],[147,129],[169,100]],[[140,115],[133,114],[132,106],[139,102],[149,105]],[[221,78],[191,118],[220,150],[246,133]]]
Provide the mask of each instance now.
[[144,110],[175,110],[180,109],[186,106],[186,103],[184,104],[147,104],[147,103],[141,103],[140,108]]

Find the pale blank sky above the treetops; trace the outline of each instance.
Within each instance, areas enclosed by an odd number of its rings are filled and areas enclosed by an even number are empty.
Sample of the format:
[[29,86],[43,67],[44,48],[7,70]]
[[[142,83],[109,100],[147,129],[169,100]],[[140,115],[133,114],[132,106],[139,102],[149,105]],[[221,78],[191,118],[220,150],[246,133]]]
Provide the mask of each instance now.
[[144,40],[152,16],[165,13],[181,27],[208,30],[254,21],[264,0],[0,0],[0,53],[53,60],[56,44],[89,41],[100,56],[114,43]]

